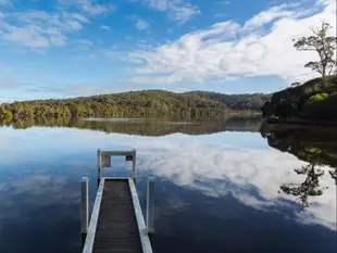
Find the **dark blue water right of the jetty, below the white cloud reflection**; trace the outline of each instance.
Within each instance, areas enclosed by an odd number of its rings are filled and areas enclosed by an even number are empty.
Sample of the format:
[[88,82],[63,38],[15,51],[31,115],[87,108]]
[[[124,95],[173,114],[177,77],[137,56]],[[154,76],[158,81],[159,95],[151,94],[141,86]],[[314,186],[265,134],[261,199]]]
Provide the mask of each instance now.
[[334,252],[335,233],[299,226],[294,213],[255,211],[232,194],[209,197],[163,181],[153,238],[155,252]]

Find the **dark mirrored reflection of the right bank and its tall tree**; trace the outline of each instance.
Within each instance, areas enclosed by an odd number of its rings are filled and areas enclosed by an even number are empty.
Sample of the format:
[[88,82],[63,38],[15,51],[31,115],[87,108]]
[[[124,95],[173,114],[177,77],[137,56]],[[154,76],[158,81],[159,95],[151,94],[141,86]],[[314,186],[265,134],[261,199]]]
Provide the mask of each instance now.
[[280,186],[280,192],[297,197],[302,208],[311,205],[310,198],[322,195],[327,189],[320,184],[326,169],[337,185],[336,128],[263,124],[260,132],[271,147],[309,162],[308,165],[294,169],[297,175],[305,176],[302,182],[286,182]]

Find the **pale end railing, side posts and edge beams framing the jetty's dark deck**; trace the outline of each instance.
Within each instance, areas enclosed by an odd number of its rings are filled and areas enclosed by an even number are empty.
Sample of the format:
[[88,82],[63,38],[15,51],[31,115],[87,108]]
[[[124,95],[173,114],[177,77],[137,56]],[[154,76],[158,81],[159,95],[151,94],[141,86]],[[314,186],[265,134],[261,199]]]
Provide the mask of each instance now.
[[[111,156],[125,156],[126,161],[133,162],[133,177],[101,177],[101,169],[103,167],[111,167]],[[101,205],[104,181],[113,179],[127,179],[130,194],[134,203],[135,215],[137,219],[137,225],[139,229],[139,236],[141,241],[142,251],[145,253],[152,253],[151,244],[149,241],[148,233],[154,232],[154,181],[153,179],[148,179],[147,186],[147,219],[142,216],[141,207],[139,204],[139,199],[137,190],[135,187],[136,179],[136,150],[132,151],[97,151],[97,166],[98,166],[98,191],[92,208],[92,214],[89,224],[89,190],[87,177],[82,179],[80,191],[80,232],[83,238],[85,238],[83,253],[91,253],[95,242],[96,228],[99,217],[99,210]]]

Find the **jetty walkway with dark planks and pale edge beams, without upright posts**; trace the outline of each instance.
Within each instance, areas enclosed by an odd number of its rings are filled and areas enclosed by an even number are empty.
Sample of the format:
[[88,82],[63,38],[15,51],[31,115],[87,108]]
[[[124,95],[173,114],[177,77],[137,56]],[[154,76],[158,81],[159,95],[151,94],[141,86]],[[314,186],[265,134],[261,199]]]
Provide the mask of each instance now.
[[134,179],[101,178],[83,253],[152,253]]

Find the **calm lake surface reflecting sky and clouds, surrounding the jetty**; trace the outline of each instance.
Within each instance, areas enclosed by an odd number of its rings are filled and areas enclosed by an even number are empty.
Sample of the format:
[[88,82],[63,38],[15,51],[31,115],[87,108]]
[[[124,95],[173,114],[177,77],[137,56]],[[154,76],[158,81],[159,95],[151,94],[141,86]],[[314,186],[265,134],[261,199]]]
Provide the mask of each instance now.
[[[336,252],[334,143],[317,151],[312,140],[262,138],[258,119],[8,125],[0,127],[1,253],[80,252],[79,181],[90,178],[92,206],[97,149],[137,149],[142,207],[154,177],[157,253]],[[103,175],[130,175],[129,162],[112,163]],[[324,174],[294,170],[301,166]]]

